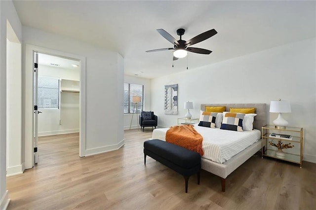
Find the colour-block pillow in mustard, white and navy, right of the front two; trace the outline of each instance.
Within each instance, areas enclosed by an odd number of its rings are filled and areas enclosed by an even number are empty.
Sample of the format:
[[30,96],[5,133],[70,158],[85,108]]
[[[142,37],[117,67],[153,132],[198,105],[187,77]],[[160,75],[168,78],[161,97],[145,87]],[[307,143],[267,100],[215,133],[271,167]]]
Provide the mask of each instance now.
[[245,114],[223,112],[221,129],[242,132],[242,121]]

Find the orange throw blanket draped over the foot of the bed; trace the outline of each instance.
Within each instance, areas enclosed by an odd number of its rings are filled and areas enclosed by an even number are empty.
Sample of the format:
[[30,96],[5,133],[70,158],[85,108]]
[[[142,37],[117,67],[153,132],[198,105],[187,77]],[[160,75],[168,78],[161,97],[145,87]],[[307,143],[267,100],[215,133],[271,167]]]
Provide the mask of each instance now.
[[203,156],[203,137],[197,133],[192,125],[172,126],[166,133],[166,141],[182,146]]

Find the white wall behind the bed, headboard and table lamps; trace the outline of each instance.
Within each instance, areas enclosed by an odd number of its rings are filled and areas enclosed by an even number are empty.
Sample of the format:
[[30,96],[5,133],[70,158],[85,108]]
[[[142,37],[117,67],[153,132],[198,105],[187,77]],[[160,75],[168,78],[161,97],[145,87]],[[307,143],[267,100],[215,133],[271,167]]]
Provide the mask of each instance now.
[[[211,56],[211,55],[210,55]],[[152,79],[151,108],[159,126],[169,127],[185,115],[185,101],[192,101],[193,117],[200,104],[266,103],[287,100],[292,113],[284,113],[289,126],[304,128],[304,160],[316,163],[316,40],[286,44],[213,65],[183,70]],[[178,83],[178,115],[163,113],[165,81]],[[268,113],[269,123],[277,117]]]

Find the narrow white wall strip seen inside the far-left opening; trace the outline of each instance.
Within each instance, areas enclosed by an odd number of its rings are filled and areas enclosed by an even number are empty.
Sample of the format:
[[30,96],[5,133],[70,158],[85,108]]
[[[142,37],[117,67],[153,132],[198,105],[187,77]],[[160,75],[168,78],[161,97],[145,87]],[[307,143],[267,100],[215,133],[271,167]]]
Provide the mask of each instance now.
[[[8,30],[12,30],[8,23]],[[13,30],[12,30],[13,31]],[[14,34],[14,32],[11,32]],[[15,36],[15,35],[14,35]],[[16,37],[16,36],[15,36]],[[14,42],[14,41],[17,41]],[[24,171],[22,151],[22,70],[21,43],[7,39],[6,63],[6,169],[7,176]]]

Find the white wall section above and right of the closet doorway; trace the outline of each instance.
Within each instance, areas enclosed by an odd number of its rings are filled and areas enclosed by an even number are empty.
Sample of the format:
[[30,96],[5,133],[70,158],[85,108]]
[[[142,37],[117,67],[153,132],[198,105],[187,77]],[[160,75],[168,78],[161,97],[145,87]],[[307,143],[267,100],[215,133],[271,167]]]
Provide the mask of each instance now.
[[[121,135],[123,125],[114,123],[118,118],[123,117],[121,111],[122,101],[118,98],[118,92],[121,95],[123,94],[122,90],[118,90],[119,86],[123,85],[123,65],[120,64],[122,62],[121,56],[116,52],[94,47],[65,36],[45,33],[30,27],[23,27],[23,40],[24,43],[77,54],[86,58],[85,80],[83,81],[80,78],[80,82],[86,84],[86,131],[85,148],[83,148],[82,155],[87,156],[106,152],[122,146],[124,143]],[[24,56],[29,55],[26,55],[24,52]],[[23,67],[27,71],[26,73],[31,73],[29,71],[32,71],[32,68],[30,68],[32,64],[25,64]],[[30,97],[26,96],[26,98]]]

